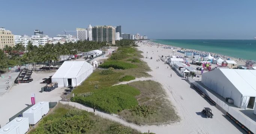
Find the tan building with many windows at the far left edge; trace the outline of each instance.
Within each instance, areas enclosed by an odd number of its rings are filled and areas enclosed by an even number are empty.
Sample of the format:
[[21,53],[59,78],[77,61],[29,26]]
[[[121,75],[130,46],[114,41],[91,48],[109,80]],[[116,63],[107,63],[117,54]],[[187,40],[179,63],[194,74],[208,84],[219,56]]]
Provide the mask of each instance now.
[[10,47],[15,45],[14,35],[11,31],[0,28],[0,48],[3,49],[6,45]]

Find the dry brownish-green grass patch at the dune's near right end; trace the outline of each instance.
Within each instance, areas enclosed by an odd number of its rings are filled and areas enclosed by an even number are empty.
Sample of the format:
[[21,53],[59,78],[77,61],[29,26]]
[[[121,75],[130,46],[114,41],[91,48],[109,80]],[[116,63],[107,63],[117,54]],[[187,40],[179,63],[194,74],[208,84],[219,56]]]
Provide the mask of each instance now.
[[160,83],[147,80],[128,83],[128,85],[141,91],[141,94],[136,96],[140,107],[119,112],[121,117],[138,123],[168,122],[179,119]]

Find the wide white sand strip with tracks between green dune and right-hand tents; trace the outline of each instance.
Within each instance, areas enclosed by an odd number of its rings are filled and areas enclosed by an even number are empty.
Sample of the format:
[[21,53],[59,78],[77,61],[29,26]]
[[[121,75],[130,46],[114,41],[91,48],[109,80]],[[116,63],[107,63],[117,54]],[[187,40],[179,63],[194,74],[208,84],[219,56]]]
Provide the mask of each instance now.
[[[181,55],[181,53],[171,53],[170,49],[163,49],[156,45],[142,43],[138,43],[138,45],[138,49],[144,52],[144,57],[146,57],[147,52],[148,57],[153,57],[152,60],[149,58],[142,60],[148,63],[148,66],[152,70],[149,74],[151,74],[157,82],[162,84],[171,103],[175,106],[178,115],[181,117],[180,122],[168,125],[168,127],[162,129],[154,129],[153,127],[152,132],[157,134],[240,134],[243,132],[243,130],[241,132],[240,129],[236,128],[237,126],[229,122],[219,109],[192,89],[184,78],[178,76],[170,67],[167,69],[168,64],[164,64],[162,61],[156,61],[156,59],[160,59],[159,55]],[[156,66],[159,66],[159,69],[156,69]],[[204,107],[212,109],[214,114],[213,118],[204,118],[204,116],[201,115],[201,111]]]

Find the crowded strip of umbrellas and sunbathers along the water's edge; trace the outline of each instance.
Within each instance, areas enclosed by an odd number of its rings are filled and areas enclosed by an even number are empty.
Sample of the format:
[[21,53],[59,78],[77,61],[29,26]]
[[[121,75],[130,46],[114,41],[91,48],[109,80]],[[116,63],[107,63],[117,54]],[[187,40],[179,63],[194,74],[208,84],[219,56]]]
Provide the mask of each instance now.
[[[160,43],[156,43],[156,42],[153,42],[152,40],[147,40],[147,41],[144,41],[144,43],[147,43],[145,45],[156,45],[158,47],[171,47],[171,48],[174,48],[174,49],[170,49],[170,50],[175,50],[177,52],[177,50],[181,50],[181,47],[177,47],[177,46],[174,46],[174,45],[166,45],[166,44],[160,44]],[[164,48],[164,49],[168,49],[168,48]],[[189,48],[183,48],[183,51],[186,50],[186,51],[193,51],[193,52],[198,52],[198,53],[202,53],[202,54],[206,54],[208,55],[209,53],[211,55],[216,55],[220,58],[222,58],[222,60],[228,60],[228,58],[230,60],[234,60],[237,65],[240,65],[240,66],[245,66],[246,64],[246,61],[247,59],[243,59],[243,58],[238,58],[238,57],[231,57],[231,56],[228,56],[228,55],[223,55],[223,54],[217,54],[215,52],[208,52],[208,51],[201,51],[201,50],[195,50],[195,49],[189,49]],[[184,55],[183,53],[179,52],[181,55]],[[204,57],[202,57],[204,58]],[[217,59],[217,58],[216,58]]]

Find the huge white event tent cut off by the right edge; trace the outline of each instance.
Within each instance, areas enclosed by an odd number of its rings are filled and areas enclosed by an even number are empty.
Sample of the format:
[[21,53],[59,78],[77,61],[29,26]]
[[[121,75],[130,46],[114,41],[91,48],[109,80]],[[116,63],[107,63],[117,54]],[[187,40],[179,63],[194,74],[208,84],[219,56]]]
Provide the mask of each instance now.
[[253,108],[256,102],[256,70],[217,68],[202,74],[202,83],[238,108]]

